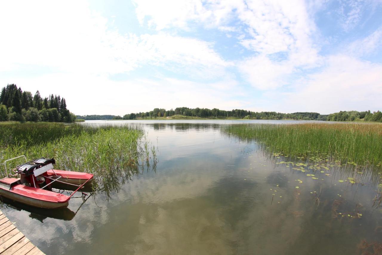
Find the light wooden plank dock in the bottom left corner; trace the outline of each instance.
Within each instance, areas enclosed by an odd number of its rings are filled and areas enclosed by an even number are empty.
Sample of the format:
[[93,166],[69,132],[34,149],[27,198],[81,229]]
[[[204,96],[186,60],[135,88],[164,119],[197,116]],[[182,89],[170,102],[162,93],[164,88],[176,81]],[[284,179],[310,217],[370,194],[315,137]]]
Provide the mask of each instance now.
[[42,255],[44,253],[0,211],[0,254]]

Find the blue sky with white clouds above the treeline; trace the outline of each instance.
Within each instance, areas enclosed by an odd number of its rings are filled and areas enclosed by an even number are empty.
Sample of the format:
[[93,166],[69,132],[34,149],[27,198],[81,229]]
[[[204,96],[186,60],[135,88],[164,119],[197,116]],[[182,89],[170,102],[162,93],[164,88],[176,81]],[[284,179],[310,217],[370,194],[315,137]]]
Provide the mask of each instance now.
[[2,1],[0,87],[79,115],[382,110],[382,0]]

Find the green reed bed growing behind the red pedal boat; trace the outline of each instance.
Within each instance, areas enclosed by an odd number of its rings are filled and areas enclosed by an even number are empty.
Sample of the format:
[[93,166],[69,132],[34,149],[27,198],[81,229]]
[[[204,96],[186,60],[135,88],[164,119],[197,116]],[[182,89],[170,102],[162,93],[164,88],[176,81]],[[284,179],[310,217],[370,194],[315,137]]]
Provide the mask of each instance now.
[[[0,160],[54,157],[57,169],[93,173],[95,188],[116,190],[120,183],[154,163],[155,148],[142,129],[62,123],[0,124]],[[19,162],[20,163],[20,162]],[[14,167],[14,166],[13,166]],[[0,171],[5,176],[5,169]]]

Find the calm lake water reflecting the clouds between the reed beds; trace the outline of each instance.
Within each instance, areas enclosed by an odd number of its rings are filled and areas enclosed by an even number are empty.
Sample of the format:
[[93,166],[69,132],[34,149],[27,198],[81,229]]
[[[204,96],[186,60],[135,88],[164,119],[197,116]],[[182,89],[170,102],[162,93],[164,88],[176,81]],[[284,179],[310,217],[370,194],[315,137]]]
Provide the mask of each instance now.
[[110,199],[71,199],[53,212],[5,204],[47,254],[361,254],[382,241],[378,170],[280,163],[291,159],[220,132],[222,124],[302,121],[87,123],[143,127],[159,161]]

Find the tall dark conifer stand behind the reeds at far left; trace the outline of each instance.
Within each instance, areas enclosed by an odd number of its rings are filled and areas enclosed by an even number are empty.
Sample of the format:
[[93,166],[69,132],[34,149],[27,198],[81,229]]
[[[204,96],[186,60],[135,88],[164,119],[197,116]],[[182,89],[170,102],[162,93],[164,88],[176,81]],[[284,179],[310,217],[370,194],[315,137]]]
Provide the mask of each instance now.
[[32,95],[15,84],[8,84],[1,90],[0,121],[72,122],[75,119],[60,95],[42,98],[38,90]]

